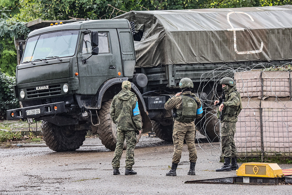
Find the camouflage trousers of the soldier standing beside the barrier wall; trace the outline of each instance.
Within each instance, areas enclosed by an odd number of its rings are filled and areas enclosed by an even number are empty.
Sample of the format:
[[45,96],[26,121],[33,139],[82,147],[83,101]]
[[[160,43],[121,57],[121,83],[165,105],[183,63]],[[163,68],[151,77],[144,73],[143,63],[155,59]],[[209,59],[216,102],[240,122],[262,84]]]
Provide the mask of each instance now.
[[237,150],[234,143],[236,122],[221,123],[221,149],[224,158],[237,157]]

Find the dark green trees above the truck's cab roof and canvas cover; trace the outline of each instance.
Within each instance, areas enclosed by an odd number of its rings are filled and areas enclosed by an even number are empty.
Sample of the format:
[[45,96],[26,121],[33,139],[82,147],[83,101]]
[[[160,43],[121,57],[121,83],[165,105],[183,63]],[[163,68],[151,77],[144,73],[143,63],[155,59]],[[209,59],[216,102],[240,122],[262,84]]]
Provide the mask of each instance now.
[[[34,5],[38,4],[38,1]],[[109,19],[131,10],[234,8],[292,4],[290,0],[39,0],[38,15],[47,20]],[[111,6],[108,6],[110,4]],[[113,8],[113,7],[114,8]],[[115,9],[116,8],[116,9]]]

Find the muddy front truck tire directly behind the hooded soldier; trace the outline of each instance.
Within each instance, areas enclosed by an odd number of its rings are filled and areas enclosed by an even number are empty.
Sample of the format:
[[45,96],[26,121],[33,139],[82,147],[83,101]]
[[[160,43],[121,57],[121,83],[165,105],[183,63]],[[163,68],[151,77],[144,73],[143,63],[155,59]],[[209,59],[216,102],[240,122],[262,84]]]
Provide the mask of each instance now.
[[[99,139],[101,143],[105,145],[107,149],[114,151],[117,144],[117,127],[110,117],[110,106],[112,104],[112,99],[109,101],[103,102],[100,110],[98,111],[98,116],[100,118],[100,125],[98,125]],[[141,137],[136,135],[137,142]],[[124,150],[126,149],[126,140],[124,142]]]

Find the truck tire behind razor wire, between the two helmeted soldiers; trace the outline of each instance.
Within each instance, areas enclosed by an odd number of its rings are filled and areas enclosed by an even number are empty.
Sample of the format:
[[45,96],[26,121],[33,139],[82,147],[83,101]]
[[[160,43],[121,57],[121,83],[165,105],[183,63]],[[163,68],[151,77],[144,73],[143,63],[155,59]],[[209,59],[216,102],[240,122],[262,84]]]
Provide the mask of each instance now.
[[199,132],[205,135],[210,142],[218,142],[220,137],[220,122],[215,109],[215,107],[207,108],[205,115],[200,120]]

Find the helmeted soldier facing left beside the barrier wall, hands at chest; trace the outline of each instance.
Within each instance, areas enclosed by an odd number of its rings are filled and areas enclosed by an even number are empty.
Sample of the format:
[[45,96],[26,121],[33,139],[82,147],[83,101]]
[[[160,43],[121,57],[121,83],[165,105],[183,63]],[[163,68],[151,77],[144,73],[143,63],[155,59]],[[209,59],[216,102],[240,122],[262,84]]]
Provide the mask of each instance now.
[[231,171],[238,169],[234,134],[236,132],[237,116],[242,109],[241,97],[232,78],[225,77],[220,80],[219,84],[222,85],[223,94],[219,100],[214,102],[214,105],[219,106],[217,117],[221,121],[220,138],[224,164],[216,171]]

